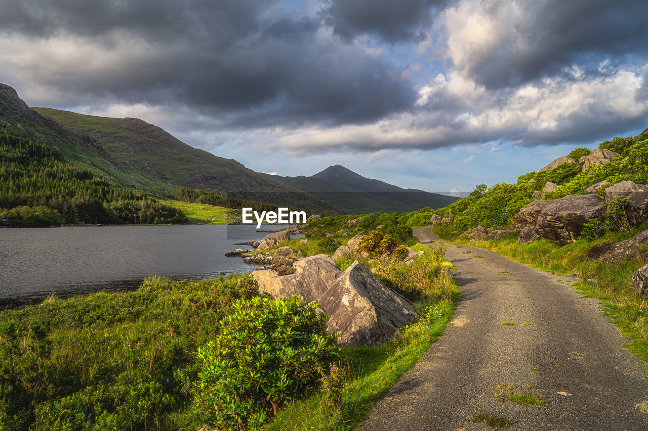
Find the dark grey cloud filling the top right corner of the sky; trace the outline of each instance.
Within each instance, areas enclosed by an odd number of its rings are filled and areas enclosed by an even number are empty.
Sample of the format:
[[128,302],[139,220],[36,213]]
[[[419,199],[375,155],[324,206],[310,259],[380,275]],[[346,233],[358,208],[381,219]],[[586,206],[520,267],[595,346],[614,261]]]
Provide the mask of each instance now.
[[645,61],[645,0],[482,1],[480,7],[504,36],[490,48],[474,45],[458,66],[489,88],[561,74],[572,63],[596,69],[603,58]]

